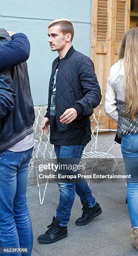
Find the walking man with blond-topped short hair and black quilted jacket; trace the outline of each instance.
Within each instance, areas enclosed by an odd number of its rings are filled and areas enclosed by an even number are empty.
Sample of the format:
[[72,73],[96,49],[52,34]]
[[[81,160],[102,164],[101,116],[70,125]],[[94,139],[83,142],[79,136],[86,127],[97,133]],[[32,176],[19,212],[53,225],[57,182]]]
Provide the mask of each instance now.
[[[48,26],[48,36],[51,50],[58,51],[59,56],[52,64],[48,108],[41,129],[48,133],[50,124],[50,143],[54,144],[59,162],[74,159],[74,164],[78,164],[84,147],[91,140],[89,117],[101,101],[101,90],[93,62],[71,45],[74,37],[71,21],[52,21]],[[102,212],[84,179],[76,183],[71,180],[58,182],[58,186],[57,216],[53,217],[49,230],[39,236],[40,243],[54,243],[67,237],[75,192],[83,205],[82,217],[76,220],[76,225],[86,225]]]

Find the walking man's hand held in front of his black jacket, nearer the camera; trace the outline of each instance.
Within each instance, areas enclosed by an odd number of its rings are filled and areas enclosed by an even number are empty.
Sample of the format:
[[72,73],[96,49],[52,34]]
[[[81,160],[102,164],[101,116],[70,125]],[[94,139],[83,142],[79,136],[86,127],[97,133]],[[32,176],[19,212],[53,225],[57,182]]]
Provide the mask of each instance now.
[[67,110],[65,110],[65,112],[59,117],[60,118],[60,122],[61,123],[71,123],[73,120],[76,119],[77,117],[77,112],[76,109],[74,108],[68,108]]

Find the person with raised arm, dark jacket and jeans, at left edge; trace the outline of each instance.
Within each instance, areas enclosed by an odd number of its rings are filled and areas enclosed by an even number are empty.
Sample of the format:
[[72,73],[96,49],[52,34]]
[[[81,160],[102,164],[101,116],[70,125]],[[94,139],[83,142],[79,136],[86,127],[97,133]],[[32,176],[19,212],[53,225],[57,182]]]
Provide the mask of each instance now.
[[25,62],[30,43],[23,33],[10,35],[0,29],[0,248],[24,247],[31,256],[26,189],[35,116]]

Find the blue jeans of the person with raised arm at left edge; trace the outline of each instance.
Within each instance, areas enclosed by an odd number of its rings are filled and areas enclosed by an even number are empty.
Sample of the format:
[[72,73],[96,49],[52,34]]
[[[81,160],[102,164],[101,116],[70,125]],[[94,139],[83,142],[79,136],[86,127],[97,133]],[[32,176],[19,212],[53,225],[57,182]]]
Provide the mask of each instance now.
[[0,247],[29,249],[4,256],[31,256],[33,234],[26,205],[28,165],[33,148],[23,152],[0,152]]

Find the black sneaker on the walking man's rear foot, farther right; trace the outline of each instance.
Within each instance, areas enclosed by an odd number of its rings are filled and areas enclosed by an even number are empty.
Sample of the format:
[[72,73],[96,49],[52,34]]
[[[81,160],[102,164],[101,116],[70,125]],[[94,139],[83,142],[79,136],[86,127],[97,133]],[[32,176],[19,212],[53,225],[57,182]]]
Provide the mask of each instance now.
[[87,203],[82,203],[82,205],[83,205],[81,209],[81,211],[83,210],[82,216],[79,219],[77,219],[75,222],[75,224],[78,226],[87,225],[92,219],[94,219],[96,216],[102,213],[101,207],[97,202],[96,202],[96,205],[91,208],[88,207]]

